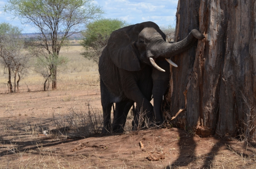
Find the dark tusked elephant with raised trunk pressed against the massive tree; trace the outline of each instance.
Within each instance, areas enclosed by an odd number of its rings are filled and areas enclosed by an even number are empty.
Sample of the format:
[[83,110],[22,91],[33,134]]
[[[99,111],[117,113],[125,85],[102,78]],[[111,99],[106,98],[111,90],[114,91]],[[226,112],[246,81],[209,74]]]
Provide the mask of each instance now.
[[[193,29],[184,40],[176,43],[168,43],[165,38],[159,26],[150,21],[111,33],[99,59],[102,133],[108,133],[111,129],[119,132],[134,102],[141,111],[146,112],[148,121],[153,122],[154,108],[149,102],[153,89],[153,67],[164,72],[157,62],[166,60],[172,63],[169,59],[171,56],[187,50],[197,39],[203,39],[204,35]],[[116,110],[111,125],[113,103],[116,103]],[[155,111],[155,116],[158,118],[161,115]]]

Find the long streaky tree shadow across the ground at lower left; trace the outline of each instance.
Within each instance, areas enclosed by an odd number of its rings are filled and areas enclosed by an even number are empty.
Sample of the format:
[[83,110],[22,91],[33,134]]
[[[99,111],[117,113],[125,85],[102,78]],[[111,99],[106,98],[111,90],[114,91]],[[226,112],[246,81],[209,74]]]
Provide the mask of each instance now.
[[[8,118],[6,118],[8,119]],[[37,119],[37,121],[39,121]],[[49,129],[47,127],[49,122],[52,121],[51,118],[44,119],[41,121],[42,125],[39,125],[39,128],[41,131]],[[74,142],[78,140],[82,140],[85,138],[90,138],[90,137],[105,137],[105,136],[113,136],[113,134],[109,135],[92,135],[92,136],[60,136],[60,135],[54,135],[53,131],[49,130],[52,134],[48,134],[47,136],[43,135],[43,132],[38,135],[40,132],[36,132],[36,134],[29,134],[30,131],[26,132],[24,129],[24,121],[12,121],[10,120],[6,122],[6,124],[2,124],[7,128],[7,132],[3,135],[0,136],[0,157],[6,156],[8,154],[13,154],[12,151],[15,153],[19,152],[25,152],[28,150],[36,150],[38,148],[42,147],[51,147],[51,146],[56,146],[59,144],[63,143],[69,143],[69,142]],[[37,124],[26,124],[26,127],[35,127]],[[12,131],[13,130],[13,131]],[[116,134],[119,135],[119,134]],[[30,136],[32,136],[32,139]],[[65,138],[64,138],[65,137]],[[2,149],[2,150],[1,150]],[[5,149],[5,150],[3,150]],[[34,153],[34,152],[33,152]],[[36,152],[35,152],[36,153]],[[39,152],[38,152],[39,153]]]

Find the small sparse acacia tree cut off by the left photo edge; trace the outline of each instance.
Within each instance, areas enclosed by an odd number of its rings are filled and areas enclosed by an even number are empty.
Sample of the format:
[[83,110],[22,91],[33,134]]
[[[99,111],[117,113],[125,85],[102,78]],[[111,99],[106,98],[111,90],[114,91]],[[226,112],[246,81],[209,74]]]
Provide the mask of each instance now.
[[[21,38],[21,29],[8,23],[0,24],[0,63],[4,71],[8,72],[8,86],[12,88],[12,75],[14,77],[14,92],[19,92],[19,82],[28,69],[28,55],[24,50],[24,40]],[[18,75],[18,80],[17,80]],[[17,81],[16,81],[17,80]]]

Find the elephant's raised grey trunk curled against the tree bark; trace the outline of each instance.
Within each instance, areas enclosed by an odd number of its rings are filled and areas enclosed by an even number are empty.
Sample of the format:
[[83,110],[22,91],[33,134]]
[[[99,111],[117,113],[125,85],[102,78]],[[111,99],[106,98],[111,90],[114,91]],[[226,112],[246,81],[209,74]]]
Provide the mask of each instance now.
[[155,48],[156,51],[151,51],[151,53],[157,53],[157,56],[170,58],[171,56],[178,55],[191,48],[197,39],[201,40],[204,38],[205,36],[202,33],[200,33],[197,29],[193,29],[185,39],[176,43],[161,43],[160,48]]

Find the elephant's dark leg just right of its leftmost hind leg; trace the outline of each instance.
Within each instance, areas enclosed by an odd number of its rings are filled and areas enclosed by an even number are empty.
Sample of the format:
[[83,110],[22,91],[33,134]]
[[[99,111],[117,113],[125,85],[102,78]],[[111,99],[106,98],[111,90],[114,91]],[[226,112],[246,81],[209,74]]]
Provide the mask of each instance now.
[[122,133],[124,132],[124,126],[126,122],[126,117],[129,113],[130,108],[133,105],[133,101],[122,101],[116,103],[116,113],[113,120],[113,132]]

